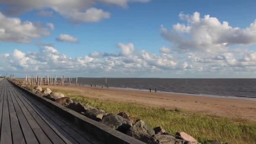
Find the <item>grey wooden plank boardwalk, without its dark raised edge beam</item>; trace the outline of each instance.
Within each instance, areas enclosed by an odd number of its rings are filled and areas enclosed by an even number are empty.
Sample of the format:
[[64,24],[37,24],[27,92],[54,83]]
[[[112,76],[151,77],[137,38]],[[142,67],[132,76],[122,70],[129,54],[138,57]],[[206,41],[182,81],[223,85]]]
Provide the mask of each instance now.
[[5,79],[0,124],[0,144],[102,144]]

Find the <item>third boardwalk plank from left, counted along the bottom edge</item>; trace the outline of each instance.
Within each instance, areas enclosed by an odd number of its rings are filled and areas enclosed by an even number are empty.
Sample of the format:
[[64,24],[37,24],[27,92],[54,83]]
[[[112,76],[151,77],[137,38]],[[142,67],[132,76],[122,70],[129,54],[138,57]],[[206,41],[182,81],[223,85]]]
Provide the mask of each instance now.
[[[13,91],[11,91],[13,94]],[[21,108],[19,107],[19,104],[17,103],[16,99],[13,95],[11,95],[11,99],[13,101],[14,109],[16,111],[17,117],[19,119],[19,123],[21,125],[21,130],[24,134],[24,139],[27,144],[39,144],[34,132],[32,131],[32,128],[29,126],[29,123],[27,122],[26,117],[23,115]]]

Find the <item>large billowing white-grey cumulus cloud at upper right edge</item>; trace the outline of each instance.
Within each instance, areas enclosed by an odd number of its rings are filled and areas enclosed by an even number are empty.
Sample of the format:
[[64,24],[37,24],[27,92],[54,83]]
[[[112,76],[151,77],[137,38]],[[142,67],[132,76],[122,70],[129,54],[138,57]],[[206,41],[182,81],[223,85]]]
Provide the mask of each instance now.
[[187,24],[174,24],[171,31],[161,26],[161,35],[173,44],[176,51],[227,52],[230,45],[256,43],[256,20],[246,28],[231,27],[216,17],[199,12],[192,15],[180,13],[179,18]]

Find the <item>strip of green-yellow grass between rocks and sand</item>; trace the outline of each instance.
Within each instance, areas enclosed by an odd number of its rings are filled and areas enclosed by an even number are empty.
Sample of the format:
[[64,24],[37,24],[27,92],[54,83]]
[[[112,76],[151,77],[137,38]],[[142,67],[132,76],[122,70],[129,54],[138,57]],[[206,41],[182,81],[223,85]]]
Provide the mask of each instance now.
[[127,112],[134,120],[139,118],[152,128],[162,126],[165,131],[174,134],[176,131],[184,131],[201,143],[206,140],[217,140],[230,144],[255,144],[256,141],[256,123],[247,120],[185,112],[178,108],[165,109],[132,102],[92,99],[76,91],[51,90],[109,113]]

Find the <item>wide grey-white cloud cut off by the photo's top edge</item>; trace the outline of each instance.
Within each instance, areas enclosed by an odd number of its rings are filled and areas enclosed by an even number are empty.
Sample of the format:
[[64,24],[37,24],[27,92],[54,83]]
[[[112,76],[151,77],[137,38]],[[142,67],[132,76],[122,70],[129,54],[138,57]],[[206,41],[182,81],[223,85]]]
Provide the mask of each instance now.
[[[32,10],[40,10],[41,16],[52,16],[53,11],[67,17],[72,22],[97,22],[108,19],[110,13],[102,9],[93,8],[94,5],[111,4],[127,7],[130,2],[145,3],[149,0],[1,0],[0,4],[6,5],[4,11],[16,15]],[[53,11],[45,11],[45,9]]]

